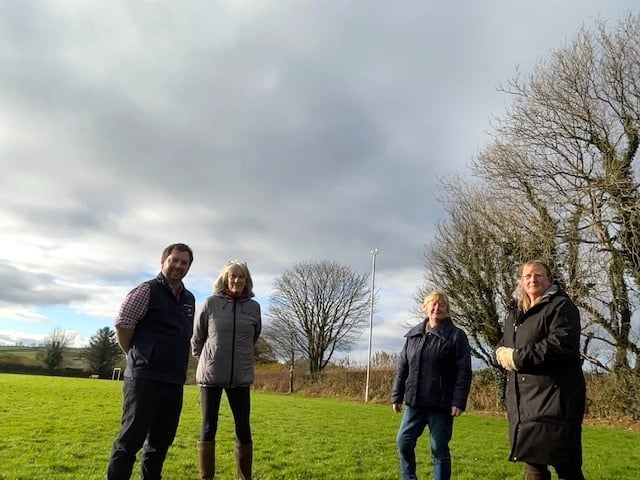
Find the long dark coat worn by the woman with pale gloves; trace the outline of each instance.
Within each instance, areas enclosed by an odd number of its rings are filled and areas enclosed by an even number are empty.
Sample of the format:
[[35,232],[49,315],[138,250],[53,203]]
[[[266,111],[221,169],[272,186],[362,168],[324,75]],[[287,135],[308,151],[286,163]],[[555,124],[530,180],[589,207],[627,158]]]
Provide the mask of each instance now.
[[526,313],[509,313],[501,345],[516,349],[517,371],[507,374],[509,459],[581,465],[586,387],[578,309],[556,288]]

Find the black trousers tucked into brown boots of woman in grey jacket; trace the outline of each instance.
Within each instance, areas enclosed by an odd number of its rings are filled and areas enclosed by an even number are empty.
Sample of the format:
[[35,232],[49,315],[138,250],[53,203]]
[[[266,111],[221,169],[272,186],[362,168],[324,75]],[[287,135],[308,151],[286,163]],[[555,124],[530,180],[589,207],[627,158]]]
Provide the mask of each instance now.
[[236,427],[236,441],[238,443],[251,443],[251,424],[249,421],[251,414],[250,387],[200,387],[200,401],[202,404],[200,441],[212,442],[216,439],[220,400],[222,399],[223,390],[227,394],[229,407],[233,414],[233,421]]

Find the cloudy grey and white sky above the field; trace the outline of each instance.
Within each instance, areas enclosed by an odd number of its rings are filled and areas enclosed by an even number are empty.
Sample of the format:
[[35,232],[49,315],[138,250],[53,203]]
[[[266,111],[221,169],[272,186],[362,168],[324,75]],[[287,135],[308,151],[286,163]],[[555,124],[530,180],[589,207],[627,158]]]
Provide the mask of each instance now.
[[497,87],[635,5],[1,0],[0,345],[87,345],[184,242],[197,303],[241,259],[265,325],[286,270],[377,249],[371,350],[398,352]]

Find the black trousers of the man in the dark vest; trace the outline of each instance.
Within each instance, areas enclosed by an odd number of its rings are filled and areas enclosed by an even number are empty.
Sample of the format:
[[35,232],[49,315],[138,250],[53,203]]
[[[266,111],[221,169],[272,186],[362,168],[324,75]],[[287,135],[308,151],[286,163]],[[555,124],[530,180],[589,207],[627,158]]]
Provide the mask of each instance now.
[[121,428],[109,457],[108,480],[129,480],[143,446],[140,477],[162,478],[162,466],[178,429],[183,388],[181,384],[125,378]]

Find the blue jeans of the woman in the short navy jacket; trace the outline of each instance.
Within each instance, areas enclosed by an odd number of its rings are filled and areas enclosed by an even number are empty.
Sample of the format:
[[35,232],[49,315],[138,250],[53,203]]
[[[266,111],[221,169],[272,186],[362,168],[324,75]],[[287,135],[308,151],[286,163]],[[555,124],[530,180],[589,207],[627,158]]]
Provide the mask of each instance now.
[[453,416],[451,412],[437,408],[413,408],[405,405],[402,423],[396,443],[400,455],[402,480],[417,480],[416,444],[418,438],[429,427],[431,457],[433,459],[433,478],[450,480],[451,453],[449,441],[453,433]]

